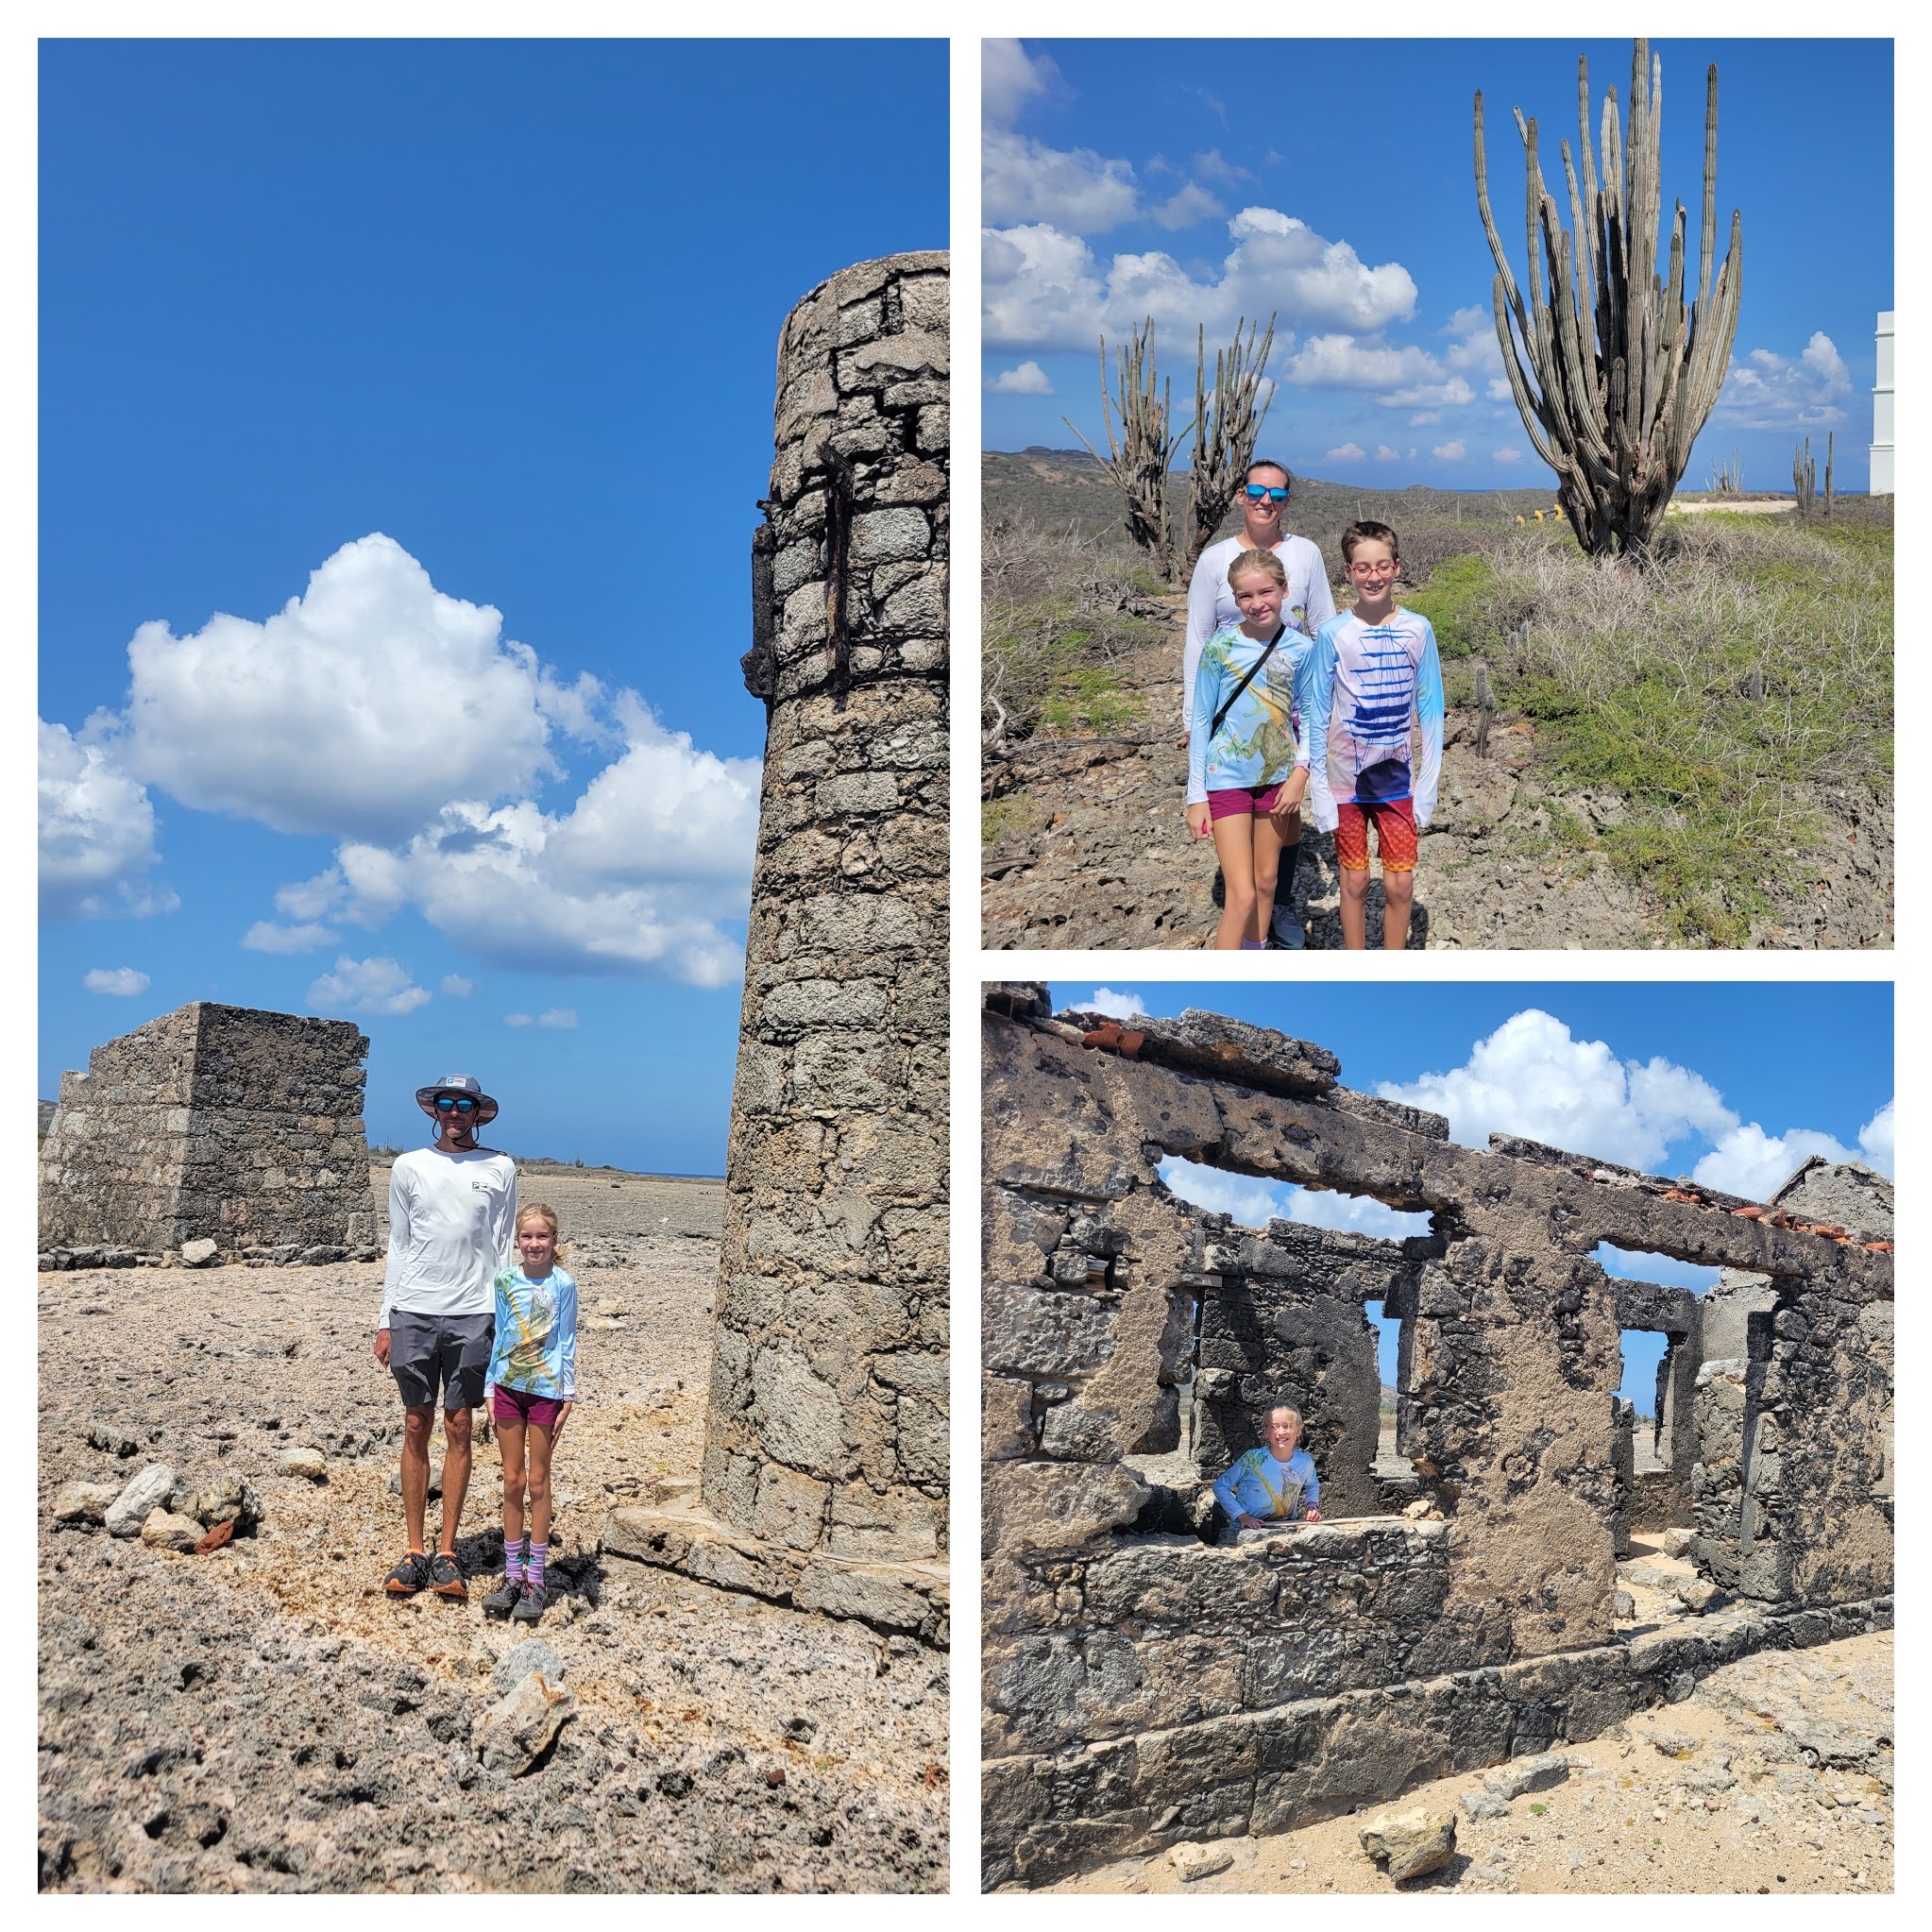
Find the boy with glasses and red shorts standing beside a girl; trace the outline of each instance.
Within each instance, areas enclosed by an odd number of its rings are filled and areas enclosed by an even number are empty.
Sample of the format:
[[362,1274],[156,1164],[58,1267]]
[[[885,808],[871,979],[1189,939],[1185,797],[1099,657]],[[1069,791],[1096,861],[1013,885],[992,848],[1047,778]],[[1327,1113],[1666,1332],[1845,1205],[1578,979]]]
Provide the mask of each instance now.
[[1435,810],[1441,777],[1443,674],[1430,620],[1395,603],[1395,531],[1350,524],[1341,554],[1354,609],[1316,632],[1296,680],[1308,810],[1320,831],[1335,833],[1341,939],[1356,952],[1368,945],[1368,827],[1376,827],[1381,943],[1401,952],[1414,904],[1416,833]]

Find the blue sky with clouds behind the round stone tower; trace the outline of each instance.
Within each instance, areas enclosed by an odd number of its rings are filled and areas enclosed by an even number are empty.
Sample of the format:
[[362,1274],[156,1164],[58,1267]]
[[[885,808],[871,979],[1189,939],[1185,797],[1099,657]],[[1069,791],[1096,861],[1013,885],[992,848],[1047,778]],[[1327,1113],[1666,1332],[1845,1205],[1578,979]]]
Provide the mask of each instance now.
[[943,41],[43,43],[43,1095],[220,999],[723,1169],[779,327],[947,160]]

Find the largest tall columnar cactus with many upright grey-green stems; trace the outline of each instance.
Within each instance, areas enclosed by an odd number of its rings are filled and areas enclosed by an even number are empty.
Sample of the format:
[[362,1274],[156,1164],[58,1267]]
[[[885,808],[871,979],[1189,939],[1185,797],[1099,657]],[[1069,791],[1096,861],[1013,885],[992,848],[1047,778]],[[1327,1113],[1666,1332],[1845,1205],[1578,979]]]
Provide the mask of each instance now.
[[1646,41],[1631,60],[1629,133],[1617,89],[1604,97],[1598,180],[1590,147],[1590,66],[1577,62],[1582,185],[1569,141],[1563,174],[1571,228],[1544,187],[1536,122],[1517,114],[1528,174],[1528,303],[1509,272],[1490,213],[1490,174],[1476,95],[1476,205],[1495,257],[1495,332],[1522,427],[1557,473],[1557,495],[1577,541],[1592,556],[1648,549],[1690,444],[1718,400],[1745,267],[1743,220],[1731,211],[1731,245],[1712,280],[1718,247],[1718,70],[1706,75],[1704,220],[1696,301],[1685,307],[1685,205],[1671,222],[1669,269],[1658,274],[1658,135],[1663,64]]

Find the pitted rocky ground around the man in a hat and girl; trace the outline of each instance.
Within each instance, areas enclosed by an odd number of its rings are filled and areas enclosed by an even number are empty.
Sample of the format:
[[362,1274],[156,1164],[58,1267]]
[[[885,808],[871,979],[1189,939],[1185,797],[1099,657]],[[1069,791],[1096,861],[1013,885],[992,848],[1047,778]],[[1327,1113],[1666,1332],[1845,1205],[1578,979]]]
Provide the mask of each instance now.
[[[945,1888],[945,1656],[597,1555],[611,1507],[696,1480],[721,1184],[526,1169],[522,1192],[576,1236],[585,1312],[537,1631],[572,1704],[522,1776],[477,1754],[529,1634],[477,1602],[493,1443],[471,1600],[381,1594],[404,1548],[381,1265],[39,1277],[43,1889]],[[178,1495],[240,1476],[259,1530],[191,1555],[52,1520],[66,1484],[156,1463]]]

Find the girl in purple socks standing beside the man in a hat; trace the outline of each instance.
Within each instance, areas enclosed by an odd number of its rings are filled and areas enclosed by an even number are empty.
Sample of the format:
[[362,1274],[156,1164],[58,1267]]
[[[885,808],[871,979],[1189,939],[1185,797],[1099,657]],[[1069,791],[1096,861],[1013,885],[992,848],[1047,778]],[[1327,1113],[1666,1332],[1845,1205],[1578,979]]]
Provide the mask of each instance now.
[[489,1379],[502,1447],[502,1582],[483,1598],[483,1609],[518,1623],[537,1623],[549,1602],[543,1573],[551,1553],[551,1453],[578,1391],[578,1285],[556,1265],[556,1209],[527,1202],[516,1215],[522,1267],[497,1275]]

